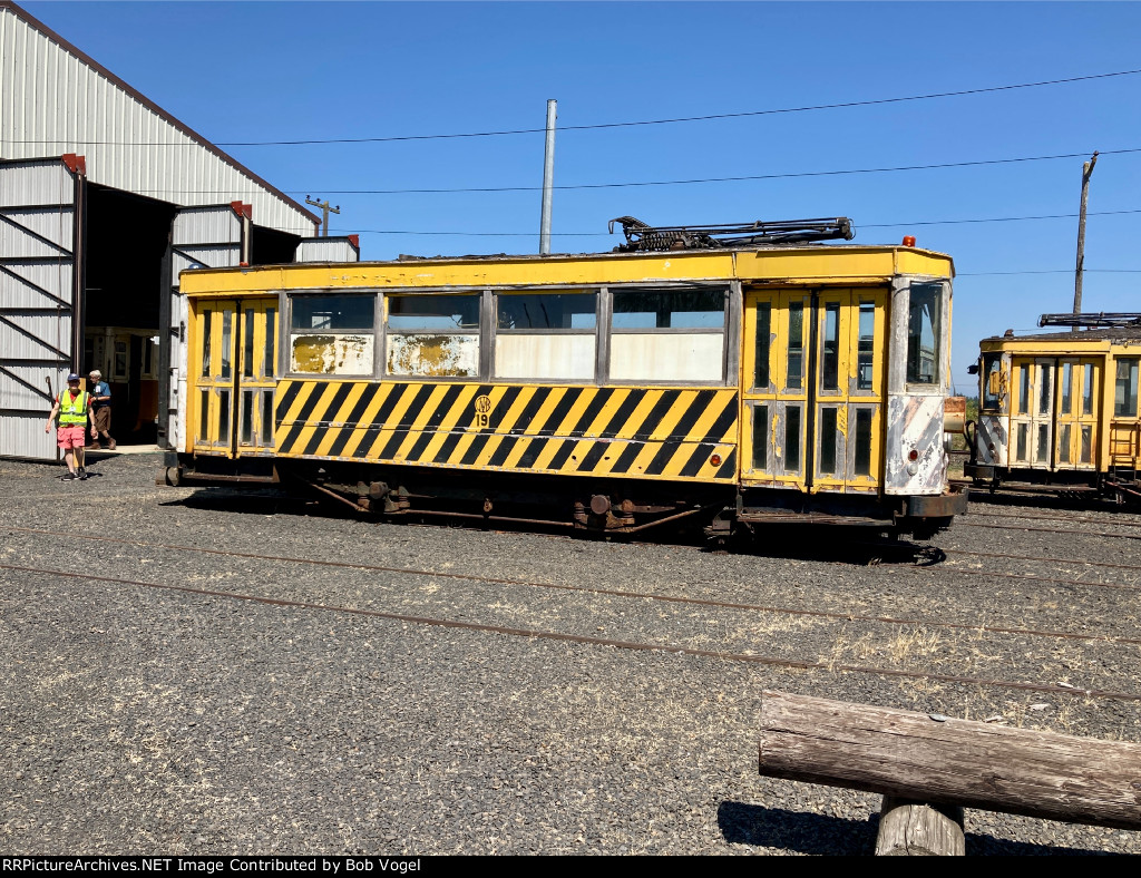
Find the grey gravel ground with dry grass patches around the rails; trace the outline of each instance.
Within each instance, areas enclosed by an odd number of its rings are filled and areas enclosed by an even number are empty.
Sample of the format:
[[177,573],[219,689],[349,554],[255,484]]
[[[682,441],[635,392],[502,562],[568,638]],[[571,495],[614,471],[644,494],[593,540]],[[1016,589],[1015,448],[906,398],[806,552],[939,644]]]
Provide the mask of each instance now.
[[[834,667],[1141,693],[1136,643],[979,627],[1141,639],[1139,571],[1083,563],[1141,563],[1136,515],[1108,526],[1068,513],[1061,527],[1118,536],[1059,537],[994,527],[1051,527],[1008,518],[1050,514],[1041,507],[980,504],[933,540],[947,551],[937,563],[931,551],[819,535],[815,548],[783,534],[715,554],[373,523],[273,491],[156,488],[159,463],[94,456],[91,479],[64,483],[56,468],[0,462],[0,563],[80,575],[0,569],[6,851],[869,853],[877,796],[756,774],[764,689],[1141,741],[1138,702]],[[135,542],[30,533],[68,528]],[[98,576],[825,667],[508,636]],[[1141,853],[1138,832],[984,811],[969,811],[966,828],[969,853]]]

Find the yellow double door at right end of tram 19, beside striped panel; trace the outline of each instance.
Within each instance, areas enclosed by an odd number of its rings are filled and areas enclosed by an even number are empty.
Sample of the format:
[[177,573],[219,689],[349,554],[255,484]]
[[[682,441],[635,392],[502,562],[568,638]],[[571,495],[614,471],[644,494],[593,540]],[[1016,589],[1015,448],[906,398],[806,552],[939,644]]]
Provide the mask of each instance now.
[[742,480],[879,490],[887,291],[745,296]]

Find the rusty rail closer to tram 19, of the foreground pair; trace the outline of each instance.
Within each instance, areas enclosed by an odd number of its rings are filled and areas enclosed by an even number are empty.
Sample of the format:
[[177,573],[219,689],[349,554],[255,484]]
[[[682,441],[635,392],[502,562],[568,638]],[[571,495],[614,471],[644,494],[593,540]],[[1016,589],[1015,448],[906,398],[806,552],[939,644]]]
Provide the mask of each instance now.
[[[6,530],[15,530],[19,533],[33,533],[47,536],[64,536],[62,531],[41,530],[37,528],[8,527],[6,528]],[[525,588],[545,588],[550,591],[573,592],[578,594],[594,594],[604,597],[629,597],[634,600],[655,601],[657,603],[673,603],[673,604],[690,605],[690,607],[709,607],[713,609],[723,609],[723,610],[750,610],[754,612],[771,612],[783,616],[801,616],[809,618],[835,619],[839,621],[866,621],[866,623],[879,623],[883,625],[908,625],[908,626],[922,626],[928,628],[949,628],[955,631],[978,632],[979,634],[985,634],[989,632],[994,634],[1015,634],[1029,637],[1052,637],[1058,640],[1075,640],[1075,641],[1099,642],[1099,643],[1130,643],[1130,644],[1141,645],[1141,639],[1116,637],[1106,634],[1079,634],[1076,632],[1059,632],[1059,631],[1047,631],[1047,629],[1044,631],[1036,628],[1019,628],[1019,627],[1006,627],[1006,626],[996,626],[986,624],[968,625],[965,623],[934,621],[929,619],[907,619],[893,616],[866,616],[851,612],[830,612],[827,610],[803,610],[791,607],[770,607],[758,603],[738,603],[733,601],[706,600],[702,597],[681,597],[677,595],[666,595],[666,594],[628,592],[617,588],[598,588],[592,586],[566,585],[560,583],[536,583],[534,580],[528,580],[528,579],[509,579],[502,577],[476,576],[475,574],[446,574],[446,572],[438,572],[436,570],[421,570],[418,568],[410,568],[410,567],[386,567],[381,564],[363,564],[348,561],[323,561],[321,559],[310,559],[310,558],[261,555],[250,552],[232,552],[222,548],[202,548],[199,546],[179,546],[165,543],[149,543],[141,539],[122,539],[120,537],[89,536],[79,534],[72,536],[74,536],[74,538],[76,539],[90,539],[90,540],[106,542],[106,543],[121,543],[126,545],[143,546],[146,548],[163,548],[176,552],[199,552],[202,554],[222,555],[226,558],[244,558],[253,561],[274,561],[274,562],[298,563],[298,564],[316,564],[319,567],[337,567],[351,570],[367,570],[372,572],[403,574],[407,576],[423,576],[423,577],[434,577],[439,579],[475,582],[487,585],[510,585]],[[2,569],[2,567],[3,566],[0,564],[0,569]],[[907,568],[907,569],[920,570],[921,568]],[[966,572],[973,575],[980,571],[956,570],[956,572]],[[1001,576],[1001,574],[996,575]],[[1141,586],[1138,587],[1112,586],[1112,587],[1133,588],[1135,591],[1141,591]]]

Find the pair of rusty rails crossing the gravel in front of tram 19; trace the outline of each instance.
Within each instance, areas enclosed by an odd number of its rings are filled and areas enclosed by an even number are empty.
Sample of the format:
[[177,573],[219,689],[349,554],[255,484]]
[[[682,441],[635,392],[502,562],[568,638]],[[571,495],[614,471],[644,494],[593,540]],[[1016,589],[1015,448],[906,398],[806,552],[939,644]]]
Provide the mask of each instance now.
[[[17,528],[7,527],[5,528],[11,533],[25,533],[35,534],[43,536],[64,536],[62,531],[44,530],[39,528]],[[229,550],[220,548],[205,548],[200,546],[183,546],[173,544],[162,544],[152,543],[147,540],[139,539],[123,539],[119,537],[106,537],[106,536],[94,536],[94,535],[70,535],[75,539],[84,539],[91,542],[102,543],[114,543],[122,545],[131,545],[136,547],[148,547],[164,551],[175,552],[194,552],[202,554],[210,554],[217,556],[227,556],[245,560],[258,560],[258,561],[274,561],[274,562],[285,562],[285,563],[298,563],[298,564],[313,564],[319,567],[332,567],[332,568],[345,568],[345,569],[356,569],[356,570],[367,570],[377,572],[391,572],[408,576],[423,576],[430,577],[432,579],[446,579],[453,582],[475,582],[482,584],[493,584],[493,585],[510,585],[513,587],[527,587],[527,588],[542,588],[559,592],[580,593],[589,595],[601,595],[609,597],[622,597],[631,600],[641,601],[653,601],[665,604],[674,605],[693,605],[702,608],[714,608],[714,609],[729,609],[729,610],[745,610],[754,612],[768,612],[774,615],[784,615],[791,617],[814,617],[823,618],[835,621],[858,621],[858,623],[876,623],[893,626],[908,626],[908,627],[924,627],[928,629],[945,629],[945,631],[963,631],[963,632],[977,632],[992,633],[992,634],[1010,634],[1017,636],[1036,637],[1036,639],[1053,639],[1053,640],[1068,640],[1068,641],[1082,641],[1087,643],[1123,643],[1123,644],[1138,644],[1141,645],[1141,639],[1134,637],[1115,637],[1099,634],[1082,634],[1076,632],[1059,632],[1059,631],[1042,631],[1025,627],[1011,627],[1011,626],[995,626],[995,625],[969,625],[969,624],[956,624],[947,621],[936,621],[922,618],[898,618],[891,616],[877,616],[877,615],[863,615],[863,613],[844,613],[844,612],[828,612],[823,610],[804,610],[788,607],[774,607],[755,603],[742,603],[742,602],[730,602],[730,601],[714,601],[698,597],[683,597],[675,595],[661,595],[661,594],[647,594],[642,592],[630,592],[614,588],[597,588],[589,586],[575,586],[575,585],[564,585],[564,584],[552,584],[552,583],[536,583],[524,579],[513,579],[504,577],[484,577],[474,574],[448,574],[440,572],[437,570],[423,570],[408,567],[388,567],[379,564],[363,564],[357,562],[345,562],[345,561],[326,561],[322,559],[309,559],[309,558],[282,558],[276,555],[262,555],[251,552],[234,552]],[[594,637],[590,635],[581,634],[567,634],[561,632],[552,632],[544,629],[533,629],[533,628],[516,628],[500,625],[489,625],[475,621],[463,621],[456,619],[444,619],[437,617],[416,616],[408,613],[396,613],[387,612],[381,610],[367,610],[361,608],[341,607],[335,604],[326,603],[311,603],[306,601],[296,601],[281,597],[272,597],[267,595],[250,594],[243,592],[230,592],[230,591],[219,591],[219,590],[207,590],[199,588],[191,585],[179,585],[170,583],[151,583],[145,580],[127,579],[121,577],[106,577],[106,576],[91,576],[88,574],[79,574],[66,570],[50,569],[50,568],[39,568],[39,567],[26,567],[19,564],[3,564],[0,563],[0,569],[13,570],[16,572],[24,574],[41,574],[48,576],[59,576],[65,578],[76,578],[90,582],[105,582],[115,585],[130,585],[136,587],[145,587],[161,591],[173,591],[184,592],[188,594],[199,594],[204,596],[232,599],[241,601],[252,601],[257,603],[264,603],[268,605],[277,607],[291,607],[299,609],[313,609],[329,612],[343,612],[358,616],[369,616],[374,618],[382,618],[389,620],[405,621],[408,624],[437,626],[437,627],[451,627],[461,628],[470,631],[480,631],[488,633],[496,633],[510,636],[523,636],[523,637],[537,637],[545,640],[558,640],[566,642],[576,642],[584,644],[605,645],[613,647],[617,649],[629,649],[639,651],[665,651],[674,652],[678,655],[687,656],[702,656],[709,658],[718,658],[729,661],[744,661],[752,664],[771,665],[775,667],[785,668],[799,668],[799,669],[824,669],[828,672],[850,672],[850,673],[861,673],[861,674],[873,674],[881,676],[891,677],[907,677],[915,680],[931,680],[948,683],[965,683],[972,685],[981,685],[989,688],[1006,688],[1014,690],[1025,690],[1033,692],[1050,692],[1059,694],[1077,694],[1090,698],[1107,698],[1114,700],[1126,700],[1126,701],[1141,701],[1141,696],[1117,692],[1111,690],[1097,690],[1097,689],[1076,689],[1065,685],[1050,685],[1039,683],[1027,683],[1022,681],[1008,681],[1008,680],[993,680],[985,677],[974,676],[963,676],[955,674],[945,674],[938,672],[922,672],[922,670],[903,670],[897,668],[882,668],[865,665],[849,665],[840,664],[835,661],[812,661],[803,659],[787,659],[780,657],[770,656],[756,656],[751,652],[730,652],[730,651],[719,651],[719,650],[706,650],[697,649],[694,647],[686,647],[679,644],[666,644],[666,643],[650,643],[641,641],[625,641],[625,640],[612,640],[605,637]],[[960,571],[960,572],[976,572],[976,571]],[[982,571],[979,571],[982,572]],[[994,574],[986,574],[993,576]],[[1124,586],[1118,586],[1124,587]],[[1138,588],[1135,588],[1138,590]],[[1141,590],[1138,590],[1141,591]]]

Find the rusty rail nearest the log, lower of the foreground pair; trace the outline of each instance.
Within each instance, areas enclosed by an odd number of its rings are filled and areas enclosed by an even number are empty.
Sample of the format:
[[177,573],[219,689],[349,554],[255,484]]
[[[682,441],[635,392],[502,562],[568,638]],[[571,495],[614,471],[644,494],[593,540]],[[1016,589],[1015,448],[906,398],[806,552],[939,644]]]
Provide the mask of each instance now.
[[288,607],[291,609],[317,610],[322,612],[342,612],[353,616],[365,616],[375,619],[387,619],[389,621],[403,621],[411,625],[424,625],[430,627],[454,628],[461,631],[476,631],[487,634],[503,634],[513,637],[527,637],[531,640],[550,640],[564,643],[582,643],[593,647],[609,647],[612,649],[624,649],[636,652],[663,652],[677,656],[694,656],[698,658],[713,658],[722,661],[741,661],[753,665],[767,665],[770,667],[792,668],[798,670],[826,670],[830,674],[835,672],[851,674],[868,674],[872,676],[903,677],[907,680],[936,680],[942,683],[957,683],[973,686],[989,686],[992,689],[1015,689],[1026,692],[1045,692],[1059,696],[1074,696],[1081,698],[1101,698],[1115,701],[1141,701],[1141,694],[1132,692],[1116,692],[1104,689],[1078,689],[1076,686],[1047,685],[1044,683],[1026,683],[1014,680],[989,680],[986,677],[968,677],[957,674],[940,674],[934,672],[901,670],[897,668],[880,668],[866,665],[841,665],[834,661],[808,661],[801,659],[784,659],[770,656],[754,656],[747,652],[722,652],[718,650],[695,649],[693,647],[678,647],[666,643],[645,643],[639,641],[608,640],[605,637],[592,637],[588,634],[564,634],[561,632],[542,631],[537,628],[510,628],[501,625],[486,625],[483,623],[459,621],[455,619],[440,619],[431,616],[411,616],[407,613],[385,612],[382,610],[365,610],[356,607],[337,607],[334,604],[310,603],[307,601],[291,601],[282,597],[266,597],[257,594],[242,594],[240,592],[220,592],[211,588],[195,588],[189,585],[171,585],[162,583],[147,583],[138,579],[120,579],[110,576],[90,576],[88,574],[74,574],[66,570],[51,570],[46,568],[21,567],[16,564],[0,564],[3,570],[17,570],[27,574],[47,574],[49,576],[60,576],[71,579],[83,579],[86,582],[102,582],[114,585],[133,585],[144,588],[154,588],[165,592],[181,592],[185,594],[197,594],[207,597],[227,597],[235,601],[250,601],[270,607]]

